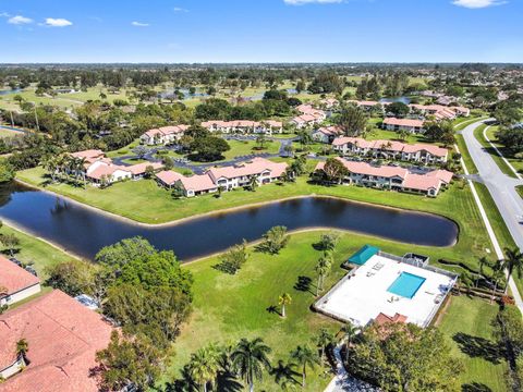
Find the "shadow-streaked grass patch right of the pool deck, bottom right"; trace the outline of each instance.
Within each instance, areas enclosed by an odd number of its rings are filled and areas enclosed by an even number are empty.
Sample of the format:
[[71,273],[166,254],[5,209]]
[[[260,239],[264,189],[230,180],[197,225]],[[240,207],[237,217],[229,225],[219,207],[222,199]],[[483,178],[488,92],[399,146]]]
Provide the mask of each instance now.
[[[492,392],[506,392],[503,380],[508,365],[496,355],[498,352],[491,327],[497,313],[496,305],[482,299],[453,296],[438,327],[448,338],[452,353],[463,360],[463,384],[484,384]],[[477,387],[463,391],[487,391]]]

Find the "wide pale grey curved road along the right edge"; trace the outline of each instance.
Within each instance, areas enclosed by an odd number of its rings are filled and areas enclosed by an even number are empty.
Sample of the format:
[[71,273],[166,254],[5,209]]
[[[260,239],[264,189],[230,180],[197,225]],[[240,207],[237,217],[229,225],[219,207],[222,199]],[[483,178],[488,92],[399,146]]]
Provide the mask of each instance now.
[[[523,199],[515,192],[515,186],[523,185],[523,180],[512,179],[504,174],[490,154],[474,137],[474,130],[484,124],[485,121],[488,120],[467,125],[462,132],[463,138],[477,168],[481,182],[487,186],[515,244],[523,250],[523,224],[520,223],[523,222]],[[496,253],[499,254],[499,249]],[[509,284],[521,309],[523,303],[513,280]]]

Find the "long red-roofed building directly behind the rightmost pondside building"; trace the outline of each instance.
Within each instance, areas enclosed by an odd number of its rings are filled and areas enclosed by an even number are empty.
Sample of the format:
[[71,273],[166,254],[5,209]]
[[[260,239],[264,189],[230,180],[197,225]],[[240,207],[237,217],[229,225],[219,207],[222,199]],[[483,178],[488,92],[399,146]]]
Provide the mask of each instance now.
[[332,148],[340,155],[370,156],[423,163],[445,163],[449,150],[429,144],[406,144],[396,140],[365,140],[361,137],[337,137]]

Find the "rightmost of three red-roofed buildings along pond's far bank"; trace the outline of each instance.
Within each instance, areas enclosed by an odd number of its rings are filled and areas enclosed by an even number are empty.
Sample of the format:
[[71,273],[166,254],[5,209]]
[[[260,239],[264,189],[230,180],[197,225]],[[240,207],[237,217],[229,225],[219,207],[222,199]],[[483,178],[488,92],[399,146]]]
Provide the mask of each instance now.
[[[373,166],[366,162],[338,159],[349,174],[343,179],[346,185],[355,184],[392,191],[421,193],[437,196],[442,187],[448,186],[453,173],[446,170],[434,170],[424,174],[412,172],[404,168],[392,166]],[[325,162],[319,162],[316,170],[323,170]]]

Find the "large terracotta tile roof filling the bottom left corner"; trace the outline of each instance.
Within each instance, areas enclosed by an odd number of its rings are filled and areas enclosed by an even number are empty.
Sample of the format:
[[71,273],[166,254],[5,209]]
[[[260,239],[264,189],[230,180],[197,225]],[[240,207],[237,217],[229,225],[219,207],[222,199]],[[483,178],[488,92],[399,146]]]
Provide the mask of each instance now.
[[98,391],[89,370],[112,328],[100,315],[53,291],[0,316],[0,368],[14,363],[16,342],[27,340],[29,365],[0,384],[2,392]]

